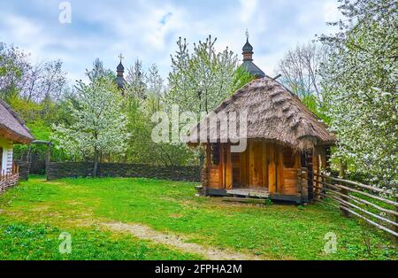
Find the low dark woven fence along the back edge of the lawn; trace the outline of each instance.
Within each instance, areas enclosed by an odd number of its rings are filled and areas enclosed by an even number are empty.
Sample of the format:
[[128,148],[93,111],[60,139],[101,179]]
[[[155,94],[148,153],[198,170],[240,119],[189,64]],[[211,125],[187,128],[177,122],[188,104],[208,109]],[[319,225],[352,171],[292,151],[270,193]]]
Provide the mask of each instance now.
[[[51,162],[47,179],[68,177],[88,177],[93,171],[93,163]],[[98,177],[144,177],[172,181],[200,181],[199,166],[150,166],[138,164],[103,163],[98,165]]]

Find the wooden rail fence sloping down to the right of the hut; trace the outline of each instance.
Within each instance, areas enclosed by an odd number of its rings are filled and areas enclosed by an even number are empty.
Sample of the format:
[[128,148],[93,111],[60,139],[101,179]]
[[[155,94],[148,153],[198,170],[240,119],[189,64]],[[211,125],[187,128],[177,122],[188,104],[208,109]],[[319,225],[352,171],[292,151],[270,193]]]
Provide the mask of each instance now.
[[313,200],[340,209],[341,214],[355,216],[371,226],[398,238],[398,194],[391,197],[385,189],[379,189],[356,181],[314,174],[308,182],[308,170],[298,173],[300,187],[313,192]]

